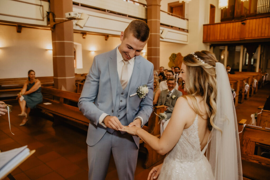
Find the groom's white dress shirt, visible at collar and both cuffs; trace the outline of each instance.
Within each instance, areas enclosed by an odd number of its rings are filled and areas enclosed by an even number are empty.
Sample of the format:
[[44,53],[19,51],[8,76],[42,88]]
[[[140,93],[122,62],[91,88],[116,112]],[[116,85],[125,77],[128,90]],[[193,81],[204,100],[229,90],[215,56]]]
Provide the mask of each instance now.
[[[120,46],[120,45],[119,45],[119,46]],[[118,72],[119,80],[121,80],[121,74],[122,74],[122,69],[123,69],[124,63],[123,63],[123,61],[122,61],[122,60],[123,60],[123,57],[122,57],[122,55],[121,55],[121,53],[120,53],[120,51],[119,51],[119,49],[118,49],[119,46],[117,46],[117,50],[116,50],[116,60],[117,60],[117,72]],[[131,77],[132,72],[133,72],[134,60],[135,60],[135,57],[131,58],[131,59],[129,60],[129,63],[127,64],[127,68],[128,68],[128,70],[129,70],[129,74],[128,74],[129,80],[130,80],[130,77]],[[109,116],[109,114],[103,113],[103,114],[101,114],[101,116],[99,117],[99,124],[102,125],[102,126],[105,127],[105,128],[106,128],[106,125],[102,124],[102,121],[103,121],[103,119],[104,119],[106,116]],[[143,125],[143,118],[140,117],[140,116],[138,116],[138,117],[136,117],[136,118],[140,118],[141,121],[142,121],[141,124]],[[136,118],[134,118],[134,120],[135,120]],[[134,121],[134,120],[133,120],[133,121]]]

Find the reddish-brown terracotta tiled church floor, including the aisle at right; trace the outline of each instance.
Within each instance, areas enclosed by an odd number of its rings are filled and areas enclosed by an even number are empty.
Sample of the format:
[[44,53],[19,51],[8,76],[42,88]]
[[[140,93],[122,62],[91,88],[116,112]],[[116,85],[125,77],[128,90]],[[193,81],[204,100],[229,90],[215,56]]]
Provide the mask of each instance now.
[[[247,119],[263,106],[270,95],[270,84],[259,89],[249,100],[236,108],[238,121]],[[9,131],[8,116],[0,117],[0,149],[11,150],[23,145],[36,152],[16,168],[11,174],[21,179],[87,179],[87,146],[86,131],[63,124],[53,126],[52,119],[33,114],[25,126],[19,126],[21,118],[18,103],[10,103],[13,111],[10,114],[11,130]],[[142,167],[146,156],[139,153],[135,179],[147,179],[152,167]],[[159,164],[158,162],[157,164]],[[157,165],[156,164],[156,165]],[[8,178],[5,178],[8,179]],[[111,158],[106,179],[118,179],[113,158]]]

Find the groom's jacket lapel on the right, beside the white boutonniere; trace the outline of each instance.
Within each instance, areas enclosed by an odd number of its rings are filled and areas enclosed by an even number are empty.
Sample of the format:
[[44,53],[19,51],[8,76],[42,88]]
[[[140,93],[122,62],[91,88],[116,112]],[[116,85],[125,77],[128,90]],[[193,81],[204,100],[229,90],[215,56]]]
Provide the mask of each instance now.
[[[139,56],[136,56],[135,59],[134,59],[134,67],[133,67],[133,72],[132,72],[132,75],[131,75],[131,78],[130,78],[130,84],[129,84],[129,91],[128,91],[128,96],[127,96],[127,111],[129,110],[129,95],[131,94],[130,91],[132,91],[134,88],[133,86],[136,85],[137,83],[137,80],[139,79],[139,74],[140,74],[140,63],[141,63],[141,60],[139,59]],[[140,84],[140,85],[143,85],[143,84]],[[137,88],[137,87],[135,87]]]

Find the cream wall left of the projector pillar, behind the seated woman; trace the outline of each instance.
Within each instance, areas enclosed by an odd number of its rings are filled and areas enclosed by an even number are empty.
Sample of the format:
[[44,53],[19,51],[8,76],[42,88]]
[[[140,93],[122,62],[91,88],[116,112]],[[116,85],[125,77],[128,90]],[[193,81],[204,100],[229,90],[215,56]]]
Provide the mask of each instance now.
[[0,25],[0,79],[27,77],[28,70],[36,76],[53,76],[52,36],[50,30]]

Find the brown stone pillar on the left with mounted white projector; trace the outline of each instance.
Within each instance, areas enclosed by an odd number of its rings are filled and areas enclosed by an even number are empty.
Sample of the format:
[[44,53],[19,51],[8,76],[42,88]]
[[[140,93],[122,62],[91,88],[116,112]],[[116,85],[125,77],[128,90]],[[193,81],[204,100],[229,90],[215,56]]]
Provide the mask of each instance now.
[[[66,12],[72,12],[72,0],[51,0],[51,11],[55,21],[65,18]],[[53,21],[53,19],[50,19]],[[55,25],[52,31],[53,79],[54,88],[75,91],[73,22],[67,21]]]

